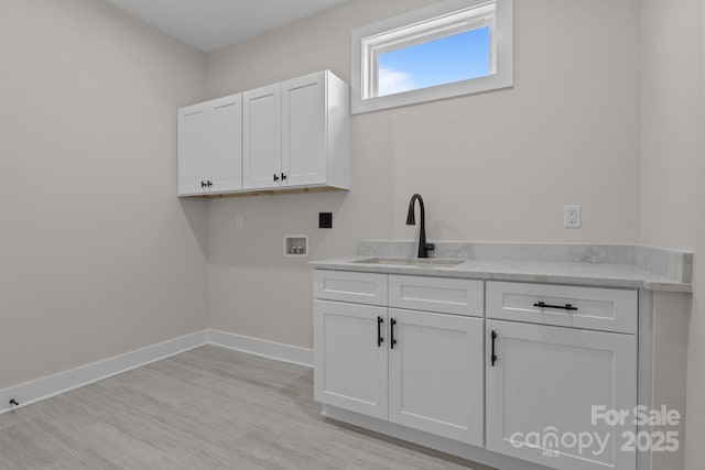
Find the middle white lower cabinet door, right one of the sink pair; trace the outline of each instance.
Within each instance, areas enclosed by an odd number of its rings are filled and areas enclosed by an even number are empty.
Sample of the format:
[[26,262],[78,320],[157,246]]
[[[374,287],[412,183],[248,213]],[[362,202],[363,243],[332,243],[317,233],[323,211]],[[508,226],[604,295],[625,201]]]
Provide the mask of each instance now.
[[390,308],[389,321],[389,420],[482,446],[482,319]]

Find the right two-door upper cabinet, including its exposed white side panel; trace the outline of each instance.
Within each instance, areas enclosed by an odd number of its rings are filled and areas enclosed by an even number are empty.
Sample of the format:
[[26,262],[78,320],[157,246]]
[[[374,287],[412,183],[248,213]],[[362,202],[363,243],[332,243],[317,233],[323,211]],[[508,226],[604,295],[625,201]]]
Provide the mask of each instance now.
[[349,89],[330,72],[245,92],[245,189],[349,189]]

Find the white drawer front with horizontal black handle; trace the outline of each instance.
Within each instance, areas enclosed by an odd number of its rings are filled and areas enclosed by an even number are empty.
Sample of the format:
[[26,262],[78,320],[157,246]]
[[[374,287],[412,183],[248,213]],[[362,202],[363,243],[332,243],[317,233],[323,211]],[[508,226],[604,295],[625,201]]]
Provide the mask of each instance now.
[[488,318],[636,334],[637,309],[637,291],[487,283]]

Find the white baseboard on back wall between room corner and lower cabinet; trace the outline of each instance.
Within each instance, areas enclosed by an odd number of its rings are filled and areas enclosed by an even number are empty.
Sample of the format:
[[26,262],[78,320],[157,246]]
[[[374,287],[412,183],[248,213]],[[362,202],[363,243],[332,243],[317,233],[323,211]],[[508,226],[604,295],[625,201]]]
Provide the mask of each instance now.
[[220,346],[223,348],[235,349],[238,351],[249,352],[250,354],[276,359],[278,361],[313,368],[312,349],[219,330],[210,330],[209,337],[209,342],[212,345]]

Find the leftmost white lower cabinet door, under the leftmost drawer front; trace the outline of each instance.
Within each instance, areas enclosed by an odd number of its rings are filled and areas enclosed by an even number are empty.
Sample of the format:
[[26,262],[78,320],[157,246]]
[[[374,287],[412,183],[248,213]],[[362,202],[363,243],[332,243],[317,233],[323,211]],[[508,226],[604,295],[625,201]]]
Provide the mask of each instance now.
[[387,308],[314,300],[314,397],[387,419]]

